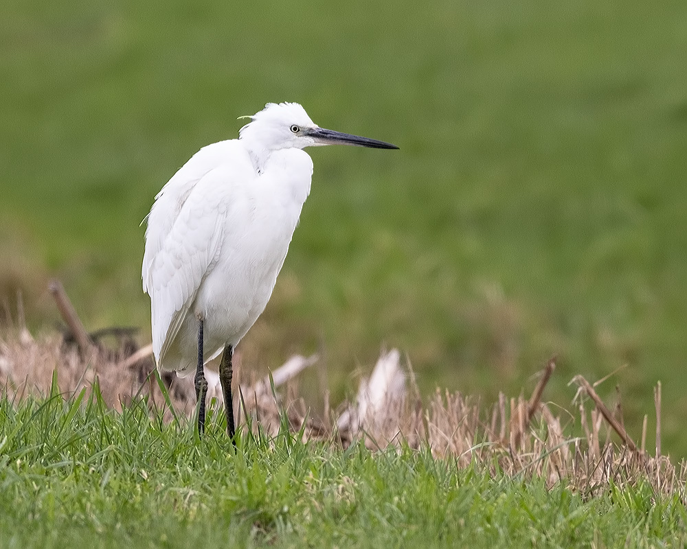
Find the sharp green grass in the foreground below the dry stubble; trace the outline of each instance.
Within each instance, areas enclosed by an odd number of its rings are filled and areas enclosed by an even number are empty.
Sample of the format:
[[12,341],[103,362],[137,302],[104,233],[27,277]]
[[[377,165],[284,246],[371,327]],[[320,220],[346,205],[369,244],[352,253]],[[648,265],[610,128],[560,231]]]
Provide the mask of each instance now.
[[5,548],[679,547],[687,513],[649,484],[598,497],[539,478],[458,469],[426,450],[372,453],[243,433],[215,414],[121,413],[97,396],[0,399]]

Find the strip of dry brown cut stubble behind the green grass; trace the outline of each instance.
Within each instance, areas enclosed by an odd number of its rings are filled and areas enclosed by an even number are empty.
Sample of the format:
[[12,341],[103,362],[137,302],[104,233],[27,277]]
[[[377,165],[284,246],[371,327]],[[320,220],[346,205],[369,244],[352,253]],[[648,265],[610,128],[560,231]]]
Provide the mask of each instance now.
[[[133,350],[129,344],[126,351],[100,346],[80,353],[58,334],[34,339],[26,329],[5,331],[0,335],[0,385],[10,397],[45,395],[56,372],[65,395],[84,387],[93,390],[98,379],[104,401],[116,410],[135,397],[146,397],[150,410],[166,408],[164,395],[150,375],[150,358],[126,360]],[[402,368],[400,353],[392,350],[381,355],[370,379],[361,381],[356,399],[336,409],[328,407],[322,417],[312,414],[294,383],[297,374],[316,361],[315,357],[293,358],[273,374],[274,390],[269,379],[249,379],[239,369],[234,377],[240,386],[234,392],[238,423],[246,425],[248,414],[254,419],[249,422],[254,429],[259,423],[275,435],[286,418],[291,430],[302,432],[304,439],[344,446],[355,439],[363,439],[371,449],[402,443],[413,448],[427,445],[433,456],[451,458],[458,467],[477,461],[493,472],[539,476],[551,485],[564,481],[589,495],[611,482],[624,485],[644,479],[656,491],[678,493],[686,500],[685,463],[675,467],[661,456],[660,442],[651,456],[644,448],[646,430],[642,443],[635,444],[622,426],[619,403],[611,412],[585,379],[574,379],[579,387],[575,414],[541,401],[554,373],[554,360],[543,370],[530,399],[500,394],[497,403],[484,406],[478,397],[439,389],[423,399],[412,371]],[[195,398],[190,378],[166,375],[164,382],[177,413],[191,417]],[[211,406],[219,406],[221,392],[212,372],[208,382],[208,396],[214,398]],[[655,401],[660,417],[660,386]],[[580,435],[574,436],[575,432]]]

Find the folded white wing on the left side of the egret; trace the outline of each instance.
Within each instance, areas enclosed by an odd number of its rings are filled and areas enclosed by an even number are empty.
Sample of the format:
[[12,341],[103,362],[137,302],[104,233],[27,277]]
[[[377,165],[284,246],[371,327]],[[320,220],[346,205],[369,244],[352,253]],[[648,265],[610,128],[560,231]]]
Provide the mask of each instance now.
[[245,150],[236,140],[222,141],[194,155],[157,195],[146,229],[142,278],[150,294],[159,366],[220,253],[238,178],[253,176]]

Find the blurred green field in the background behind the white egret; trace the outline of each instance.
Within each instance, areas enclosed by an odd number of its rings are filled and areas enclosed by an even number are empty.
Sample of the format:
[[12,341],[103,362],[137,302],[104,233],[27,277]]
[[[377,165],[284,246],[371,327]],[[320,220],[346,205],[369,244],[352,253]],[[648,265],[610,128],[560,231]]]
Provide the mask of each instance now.
[[[684,1],[8,0],[0,18],[0,296],[34,328],[65,288],[89,327],[138,325],[153,197],[239,115],[302,103],[398,152],[310,150],[311,197],[267,311],[264,369],[324,350],[335,394],[381,345],[491,401],[615,384],[635,438],[687,453]],[[653,436],[650,436],[653,444]]]

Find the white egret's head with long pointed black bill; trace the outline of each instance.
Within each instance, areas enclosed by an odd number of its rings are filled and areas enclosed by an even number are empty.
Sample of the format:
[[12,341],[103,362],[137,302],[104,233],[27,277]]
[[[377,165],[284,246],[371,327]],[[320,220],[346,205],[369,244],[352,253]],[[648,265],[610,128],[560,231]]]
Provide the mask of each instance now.
[[297,103],[268,103],[240,129],[240,139],[252,148],[278,150],[318,145],[357,145],[376,149],[398,149],[396,145],[320,128]]

